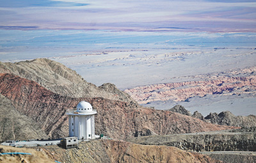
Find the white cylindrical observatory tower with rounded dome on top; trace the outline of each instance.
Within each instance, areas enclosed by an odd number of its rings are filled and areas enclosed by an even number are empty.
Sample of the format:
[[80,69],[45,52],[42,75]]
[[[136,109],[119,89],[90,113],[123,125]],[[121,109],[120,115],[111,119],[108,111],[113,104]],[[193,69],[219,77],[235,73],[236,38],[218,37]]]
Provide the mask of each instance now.
[[89,102],[81,101],[76,111],[68,112],[69,136],[80,139],[95,139],[94,116],[97,111]]

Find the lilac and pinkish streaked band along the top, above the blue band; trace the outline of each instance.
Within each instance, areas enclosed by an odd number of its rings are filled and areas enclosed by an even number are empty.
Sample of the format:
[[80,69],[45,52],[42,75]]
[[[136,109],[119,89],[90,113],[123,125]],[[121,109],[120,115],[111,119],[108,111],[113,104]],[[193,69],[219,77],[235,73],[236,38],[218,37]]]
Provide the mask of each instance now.
[[253,0],[0,0],[1,29],[255,32]]

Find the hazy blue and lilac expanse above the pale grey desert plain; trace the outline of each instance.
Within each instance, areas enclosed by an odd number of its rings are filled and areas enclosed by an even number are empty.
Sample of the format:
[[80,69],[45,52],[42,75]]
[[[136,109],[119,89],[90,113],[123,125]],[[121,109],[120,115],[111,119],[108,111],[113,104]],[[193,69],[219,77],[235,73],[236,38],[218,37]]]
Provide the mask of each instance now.
[[0,0],[0,61],[205,42],[254,46],[256,2]]

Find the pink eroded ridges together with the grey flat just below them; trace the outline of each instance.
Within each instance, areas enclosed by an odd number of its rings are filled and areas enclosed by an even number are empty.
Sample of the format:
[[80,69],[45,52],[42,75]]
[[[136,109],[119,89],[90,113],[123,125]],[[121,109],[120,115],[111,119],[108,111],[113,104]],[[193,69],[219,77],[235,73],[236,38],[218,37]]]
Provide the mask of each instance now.
[[139,104],[156,109],[170,109],[179,104],[205,116],[212,110],[221,112],[223,109],[236,115],[255,114],[255,67],[188,78],[193,80],[138,86],[125,89],[125,93]]

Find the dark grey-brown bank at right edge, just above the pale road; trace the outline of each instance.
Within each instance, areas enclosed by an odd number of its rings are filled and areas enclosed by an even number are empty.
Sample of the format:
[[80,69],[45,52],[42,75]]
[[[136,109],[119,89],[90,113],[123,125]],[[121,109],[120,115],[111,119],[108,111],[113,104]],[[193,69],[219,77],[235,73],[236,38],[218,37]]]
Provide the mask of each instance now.
[[175,146],[192,151],[256,151],[255,132],[202,132],[128,139],[145,145]]

